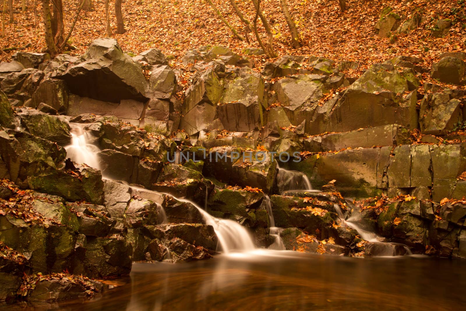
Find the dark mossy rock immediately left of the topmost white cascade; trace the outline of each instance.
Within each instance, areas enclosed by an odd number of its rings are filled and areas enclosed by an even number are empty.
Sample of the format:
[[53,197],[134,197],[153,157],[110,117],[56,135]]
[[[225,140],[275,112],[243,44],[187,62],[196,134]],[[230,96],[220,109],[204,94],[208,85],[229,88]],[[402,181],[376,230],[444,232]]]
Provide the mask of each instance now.
[[21,114],[20,118],[21,125],[35,136],[53,141],[62,146],[68,145],[71,141],[68,122],[61,117],[49,116],[37,113],[37,111],[28,111]]

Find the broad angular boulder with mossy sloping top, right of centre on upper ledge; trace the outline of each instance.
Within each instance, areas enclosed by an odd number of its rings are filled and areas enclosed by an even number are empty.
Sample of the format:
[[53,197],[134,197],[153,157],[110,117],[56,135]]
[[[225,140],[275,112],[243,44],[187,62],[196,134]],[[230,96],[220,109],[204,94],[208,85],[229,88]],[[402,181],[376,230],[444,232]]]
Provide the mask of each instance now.
[[334,97],[309,111],[306,132],[344,132],[386,124],[417,128],[417,81],[412,69],[399,72],[376,64],[351,84],[342,97]]

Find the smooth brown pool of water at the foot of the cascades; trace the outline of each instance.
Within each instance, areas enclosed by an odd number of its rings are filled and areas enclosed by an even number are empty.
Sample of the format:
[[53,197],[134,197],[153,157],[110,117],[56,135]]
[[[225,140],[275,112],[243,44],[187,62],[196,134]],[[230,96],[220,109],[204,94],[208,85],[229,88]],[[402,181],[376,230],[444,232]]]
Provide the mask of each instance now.
[[466,261],[268,251],[134,263],[96,297],[8,310],[464,310]]

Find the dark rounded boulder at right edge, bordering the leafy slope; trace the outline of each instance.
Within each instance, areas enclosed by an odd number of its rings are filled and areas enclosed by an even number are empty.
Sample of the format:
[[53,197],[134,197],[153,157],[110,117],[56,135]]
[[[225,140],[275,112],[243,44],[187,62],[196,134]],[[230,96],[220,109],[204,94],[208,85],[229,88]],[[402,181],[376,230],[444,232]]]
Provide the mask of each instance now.
[[465,77],[465,62],[456,57],[445,56],[433,64],[431,77],[444,83],[460,84]]

